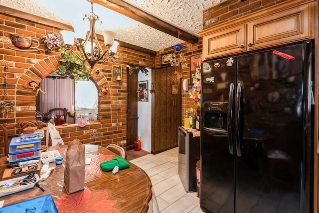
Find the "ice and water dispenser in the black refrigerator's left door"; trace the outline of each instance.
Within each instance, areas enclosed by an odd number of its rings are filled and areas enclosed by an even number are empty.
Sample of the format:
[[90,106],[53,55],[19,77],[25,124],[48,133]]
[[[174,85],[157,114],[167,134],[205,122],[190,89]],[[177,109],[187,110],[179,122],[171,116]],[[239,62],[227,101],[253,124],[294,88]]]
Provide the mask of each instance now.
[[227,131],[228,102],[204,102],[204,129]]

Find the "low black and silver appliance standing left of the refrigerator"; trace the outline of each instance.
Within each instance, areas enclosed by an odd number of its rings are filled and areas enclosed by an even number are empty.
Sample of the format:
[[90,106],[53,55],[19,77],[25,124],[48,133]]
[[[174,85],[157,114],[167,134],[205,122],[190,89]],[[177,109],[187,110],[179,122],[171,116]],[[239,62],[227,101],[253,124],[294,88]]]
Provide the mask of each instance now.
[[178,127],[178,176],[186,192],[196,192],[196,163],[199,160],[200,137]]

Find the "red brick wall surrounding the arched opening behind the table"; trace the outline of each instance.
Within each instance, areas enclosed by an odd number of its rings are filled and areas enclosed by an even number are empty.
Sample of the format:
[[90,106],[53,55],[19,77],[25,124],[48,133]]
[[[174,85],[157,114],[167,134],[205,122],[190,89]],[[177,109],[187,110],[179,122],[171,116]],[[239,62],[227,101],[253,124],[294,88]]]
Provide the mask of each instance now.
[[[44,51],[41,44],[39,52],[21,52],[9,49],[11,46],[10,34],[19,33],[39,39],[53,31],[60,29],[43,25],[31,20],[20,19],[6,14],[0,14],[0,102],[4,100],[4,65],[8,66],[6,100],[15,103],[13,110],[6,114],[0,113],[1,123],[15,123],[23,120],[35,119],[35,92],[25,89],[23,85],[32,80],[41,82],[43,78],[57,70],[60,54],[57,49],[50,53]],[[126,65],[141,65],[154,67],[154,57],[123,47],[118,47],[116,54],[119,57],[116,63],[106,62],[96,64],[91,75],[97,89],[107,86],[110,93],[106,98],[99,97],[98,112],[100,123],[92,123],[84,128],[78,126],[58,127],[65,143],[73,139],[80,139],[84,143],[106,146],[116,143],[126,147],[126,106],[127,106],[127,72]],[[112,65],[120,65],[123,70],[123,82],[112,82]],[[101,74],[96,75],[99,69]],[[9,130],[9,136],[15,135],[14,129]],[[0,130],[0,153],[3,153],[3,133]]]

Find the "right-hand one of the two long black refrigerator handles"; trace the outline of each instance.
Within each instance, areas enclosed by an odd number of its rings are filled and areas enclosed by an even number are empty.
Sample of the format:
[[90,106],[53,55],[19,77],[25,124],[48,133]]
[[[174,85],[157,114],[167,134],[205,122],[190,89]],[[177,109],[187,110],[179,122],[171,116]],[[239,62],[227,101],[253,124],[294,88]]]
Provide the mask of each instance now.
[[240,151],[240,125],[241,125],[241,96],[242,96],[242,83],[237,84],[237,94],[236,94],[236,110],[235,110],[235,131],[236,131],[236,153],[237,156],[241,156]]

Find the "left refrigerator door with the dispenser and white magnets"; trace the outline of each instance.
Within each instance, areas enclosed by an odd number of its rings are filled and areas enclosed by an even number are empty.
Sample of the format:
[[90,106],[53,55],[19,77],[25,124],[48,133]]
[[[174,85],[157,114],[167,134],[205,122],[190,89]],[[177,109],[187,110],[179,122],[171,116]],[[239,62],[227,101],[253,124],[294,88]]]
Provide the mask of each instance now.
[[200,207],[208,212],[234,212],[234,154],[229,145],[229,92],[234,93],[236,58],[203,63]]

